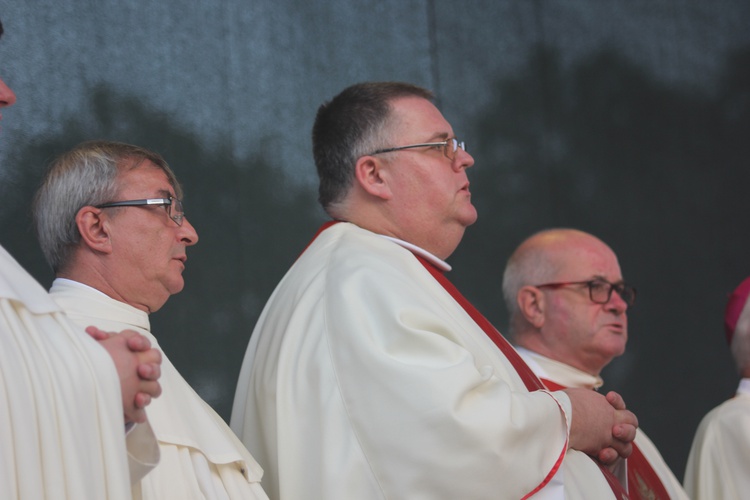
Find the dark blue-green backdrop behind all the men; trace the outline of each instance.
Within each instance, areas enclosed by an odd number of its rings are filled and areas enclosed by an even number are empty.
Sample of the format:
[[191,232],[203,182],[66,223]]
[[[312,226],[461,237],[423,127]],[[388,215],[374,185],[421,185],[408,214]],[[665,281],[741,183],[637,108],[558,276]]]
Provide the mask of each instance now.
[[18,95],[0,243],[48,285],[29,205],[49,159],[94,138],[162,153],[200,243],[153,329],[225,418],[255,320],[324,219],[315,111],[363,80],[432,88],[467,141],[480,219],[451,277],[501,330],[512,249],[577,227],[638,287],[605,387],[678,477],[700,418],[733,393],[722,317],[750,274],[750,2],[3,0],[0,18]]

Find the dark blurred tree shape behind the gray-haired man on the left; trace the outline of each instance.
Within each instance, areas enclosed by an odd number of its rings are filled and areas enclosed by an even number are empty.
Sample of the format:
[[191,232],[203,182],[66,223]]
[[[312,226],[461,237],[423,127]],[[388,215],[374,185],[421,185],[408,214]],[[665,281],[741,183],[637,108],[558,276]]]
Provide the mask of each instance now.
[[265,158],[235,158],[230,144],[207,148],[141,98],[99,87],[91,103],[91,116],[71,117],[64,134],[41,138],[15,154],[20,161],[13,178],[0,188],[1,242],[49,286],[54,277],[38,248],[30,205],[50,160],[91,139],[162,154],[183,185],[187,217],[200,241],[188,249],[185,289],[151,316],[151,326],[178,370],[228,419],[253,325],[324,220],[317,193]]

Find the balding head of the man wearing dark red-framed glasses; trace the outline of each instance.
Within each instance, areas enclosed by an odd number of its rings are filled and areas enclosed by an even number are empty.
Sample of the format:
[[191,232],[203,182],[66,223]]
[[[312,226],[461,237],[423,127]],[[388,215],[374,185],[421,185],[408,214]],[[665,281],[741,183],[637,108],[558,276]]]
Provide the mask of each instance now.
[[617,256],[599,238],[550,229],[521,243],[503,276],[515,342],[592,374],[621,355],[627,304],[616,292],[605,304],[593,302],[588,281],[622,283]]

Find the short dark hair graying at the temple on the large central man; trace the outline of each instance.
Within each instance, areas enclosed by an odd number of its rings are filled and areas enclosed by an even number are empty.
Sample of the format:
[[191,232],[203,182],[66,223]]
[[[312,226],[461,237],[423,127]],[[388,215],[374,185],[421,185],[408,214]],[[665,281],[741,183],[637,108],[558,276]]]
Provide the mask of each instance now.
[[344,89],[318,109],[313,156],[320,179],[318,200],[329,214],[348,194],[357,160],[389,146],[391,101],[401,97],[434,98],[410,83],[369,82]]

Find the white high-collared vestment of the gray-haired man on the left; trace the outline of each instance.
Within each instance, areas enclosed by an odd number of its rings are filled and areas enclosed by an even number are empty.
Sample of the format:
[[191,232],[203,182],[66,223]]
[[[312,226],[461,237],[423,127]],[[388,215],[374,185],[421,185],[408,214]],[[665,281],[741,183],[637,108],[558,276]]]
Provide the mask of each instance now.
[[[56,279],[50,296],[82,326],[135,330],[156,347],[148,314],[81,283]],[[159,465],[133,487],[144,500],[265,499],[263,470],[224,420],[188,385],[166,355],[162,395],[147,408],[161,451]]]

